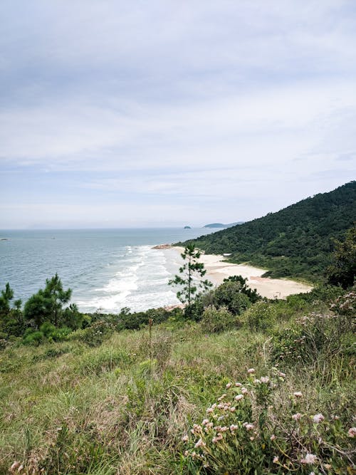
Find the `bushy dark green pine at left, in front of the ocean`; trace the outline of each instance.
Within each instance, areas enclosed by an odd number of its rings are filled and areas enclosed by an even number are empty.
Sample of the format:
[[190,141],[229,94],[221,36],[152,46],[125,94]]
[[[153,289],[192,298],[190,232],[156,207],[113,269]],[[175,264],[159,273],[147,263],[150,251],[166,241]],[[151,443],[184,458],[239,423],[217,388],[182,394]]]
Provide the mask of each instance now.
[[33,294],[25,304],[23,314],[26,320],[34,320],[39,328],[46,320],[58,326],[62,323],[63,306],[70,301],[72,291],[63,290],[61,279],[53,276],[46,279],[46,287]]

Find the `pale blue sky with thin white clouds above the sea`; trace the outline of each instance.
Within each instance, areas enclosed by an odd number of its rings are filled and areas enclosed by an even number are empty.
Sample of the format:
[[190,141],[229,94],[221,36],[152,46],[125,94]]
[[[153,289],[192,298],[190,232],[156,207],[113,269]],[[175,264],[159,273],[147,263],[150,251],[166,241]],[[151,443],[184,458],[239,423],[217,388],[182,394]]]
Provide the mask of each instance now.
[[255,219],[355,124],[355,0],[1,0],[0,229]]

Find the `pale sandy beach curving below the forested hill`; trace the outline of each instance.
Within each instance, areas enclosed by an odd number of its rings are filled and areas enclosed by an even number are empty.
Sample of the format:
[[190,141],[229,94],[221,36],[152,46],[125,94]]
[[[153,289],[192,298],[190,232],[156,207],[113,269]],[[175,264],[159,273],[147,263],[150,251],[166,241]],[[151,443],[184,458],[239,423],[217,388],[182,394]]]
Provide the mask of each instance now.
[[[177,266],[183,263],[180,256],[184,248],[170,247],[163,249],[167,259],[173,260]],[[229,276],[243,276],[248,279],[248,286],[256,288],[258,293],[267,298],[286,298],[293,293],[309,292],[313,287],[300,282],[280,278],[261,277],[266,269],[261,269],[246,264],[234,264],[224,262],[224,256],[215,256],[213,254],[202,254],[200,261],[206,268],[206,277],[209,281],[219,286],[224,278]]]

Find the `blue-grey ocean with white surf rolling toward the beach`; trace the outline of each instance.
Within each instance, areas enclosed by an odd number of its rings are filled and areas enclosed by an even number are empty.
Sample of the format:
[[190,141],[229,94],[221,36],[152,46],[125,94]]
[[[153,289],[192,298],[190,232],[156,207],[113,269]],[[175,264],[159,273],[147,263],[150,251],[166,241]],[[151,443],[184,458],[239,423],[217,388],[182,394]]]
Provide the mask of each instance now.
[[7,282],[23,303],[58,273],[82,312],[117,313],[178,303],[169,278],[179,254],[157,244],[216,230],[193,228],[0,231],[0,290]]

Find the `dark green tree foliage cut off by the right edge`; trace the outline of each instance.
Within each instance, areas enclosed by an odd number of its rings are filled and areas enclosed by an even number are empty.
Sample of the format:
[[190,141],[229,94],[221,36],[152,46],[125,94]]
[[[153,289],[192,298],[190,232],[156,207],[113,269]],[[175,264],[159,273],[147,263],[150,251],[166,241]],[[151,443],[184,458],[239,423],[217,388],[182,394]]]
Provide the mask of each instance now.
[[343,242],[335,241],[333,262],[326,271],[328,282],[351,287],[356,278],[356,226],[349,229]]

